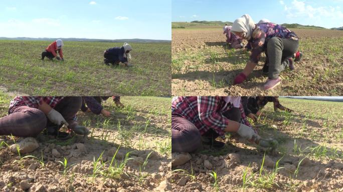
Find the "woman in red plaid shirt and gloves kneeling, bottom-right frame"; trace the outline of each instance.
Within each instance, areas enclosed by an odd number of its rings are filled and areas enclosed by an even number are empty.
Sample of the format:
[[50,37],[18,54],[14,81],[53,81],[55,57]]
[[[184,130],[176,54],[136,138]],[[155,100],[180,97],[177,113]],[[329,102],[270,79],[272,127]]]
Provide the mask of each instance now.
[[249,124],[241,97],[179,96],[171,102],[171,151],[195,152],[208,144],[222,148],[225,132],[258,141],[260,136]]

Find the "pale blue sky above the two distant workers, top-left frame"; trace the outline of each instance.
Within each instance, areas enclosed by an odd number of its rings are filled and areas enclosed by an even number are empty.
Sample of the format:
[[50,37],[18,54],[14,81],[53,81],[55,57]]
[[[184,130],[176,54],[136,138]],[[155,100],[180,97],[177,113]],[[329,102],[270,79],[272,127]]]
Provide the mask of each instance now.
[[171,0],[0,0],[0,36],[171,39]]

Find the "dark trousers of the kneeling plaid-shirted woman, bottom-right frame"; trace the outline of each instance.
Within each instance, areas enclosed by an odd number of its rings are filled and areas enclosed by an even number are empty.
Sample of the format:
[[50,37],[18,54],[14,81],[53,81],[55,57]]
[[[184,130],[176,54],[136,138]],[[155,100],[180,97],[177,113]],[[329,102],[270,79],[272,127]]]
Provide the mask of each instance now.
[[[223,113],[230,120],[240,121],[241,111],[232,108]],[[188,119],[181,116],[171,117],[171,152],[194,152],[201,148],[201,134],[199,129]],[[218,133],[209,129],[203,136],[217,138]]]

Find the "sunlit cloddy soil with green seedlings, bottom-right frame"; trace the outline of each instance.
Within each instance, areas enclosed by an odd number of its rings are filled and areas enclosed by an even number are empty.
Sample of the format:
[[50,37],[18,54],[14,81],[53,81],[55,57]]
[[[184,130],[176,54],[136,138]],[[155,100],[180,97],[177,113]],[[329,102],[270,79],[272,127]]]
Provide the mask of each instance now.
[[174,191],[343,190],[343,103],[290,98],[280,103],[294,112],[275,112],[268,103],[262,109],[267,116],[251,122],[262,137],[278,140],[277,152],[228,133],[224,148],[204,146],[172,167],[167,181]]

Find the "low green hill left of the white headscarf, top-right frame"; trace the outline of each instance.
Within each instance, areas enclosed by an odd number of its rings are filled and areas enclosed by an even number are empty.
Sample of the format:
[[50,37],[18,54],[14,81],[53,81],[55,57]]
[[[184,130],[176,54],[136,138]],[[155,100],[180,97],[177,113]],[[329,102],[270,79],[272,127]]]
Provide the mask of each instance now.
[[207,21],[207,20],[194,20],[191,22],[171,22],[171,28],[218,28],[225,24],[232,25],[232,22],[227,21]]

